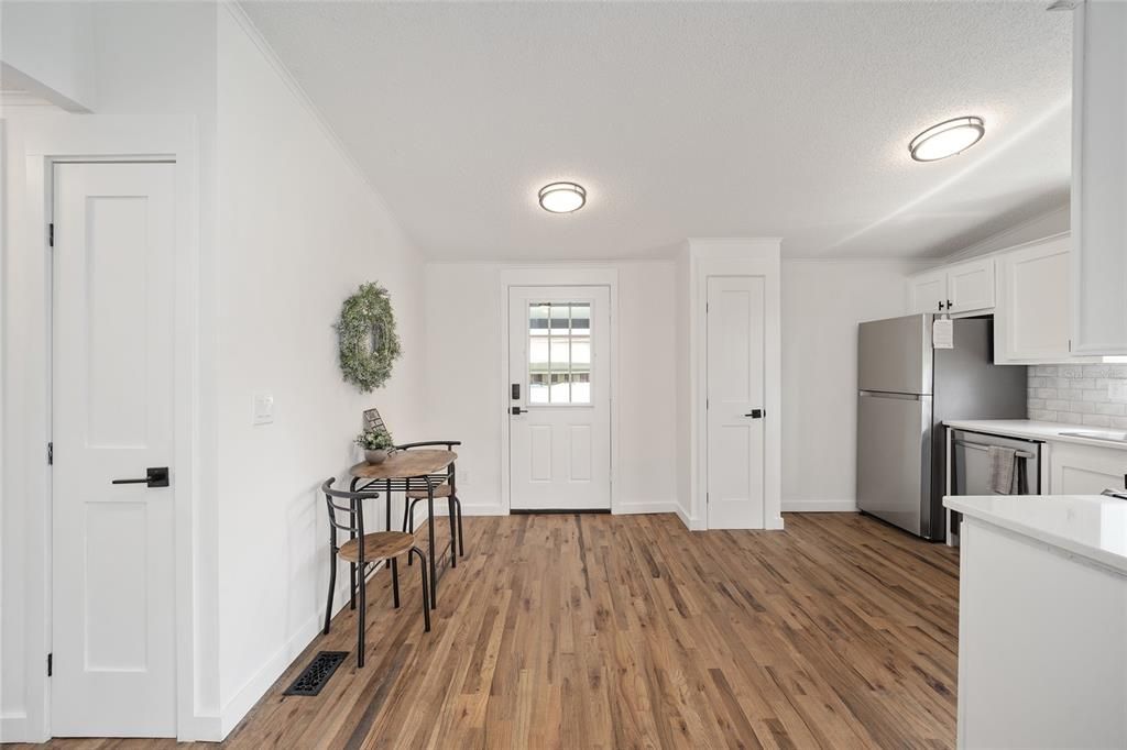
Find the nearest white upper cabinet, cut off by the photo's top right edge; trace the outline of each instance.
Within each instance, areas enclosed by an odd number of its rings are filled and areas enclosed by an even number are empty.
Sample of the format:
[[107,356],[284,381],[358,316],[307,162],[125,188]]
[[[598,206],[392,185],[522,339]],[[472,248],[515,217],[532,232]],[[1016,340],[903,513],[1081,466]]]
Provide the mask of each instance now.
[[1127,2],[1073,23],[1073,350],[1127,354]]

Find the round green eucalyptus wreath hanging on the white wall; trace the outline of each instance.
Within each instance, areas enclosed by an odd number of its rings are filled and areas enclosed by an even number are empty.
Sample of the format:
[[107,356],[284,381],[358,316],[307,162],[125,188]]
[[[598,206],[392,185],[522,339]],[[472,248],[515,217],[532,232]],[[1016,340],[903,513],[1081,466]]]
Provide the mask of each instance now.
[[345,300],[334,327],[340,337],[340,372],[365,393],[381,387],[399,358],[399,334],[391,297],[379,284],[361,284]]

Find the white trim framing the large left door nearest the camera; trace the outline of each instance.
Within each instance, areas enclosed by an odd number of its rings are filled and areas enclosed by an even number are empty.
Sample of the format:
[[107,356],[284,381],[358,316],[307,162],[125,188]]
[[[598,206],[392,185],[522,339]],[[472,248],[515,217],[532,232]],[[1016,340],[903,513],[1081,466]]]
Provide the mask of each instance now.
[[[171,158],[176,161],[176,270],[175,270],[175,461],[177,481],[174,488],[176,507],[176,673],[177,734],[187,732],[195,712],[195,557],[194,510],[197,509],[198,455],[196,431],[198,414],[198,231],[199,190],[196,123],[192,117],[116,117],[82,115],[44,117],[20,123],[26,164],[26,222],[24,233],[5,252],[27,251],[41,258],[35,265],[37,278],[21,284],[42,289],[41,304],[20,311],[26,315],[20,325],[35,330],[36,350],[27,352],[25,366],[42,373],[29,378],[34,393],[32,404],[47,404],[42,413],[8,416],[23,422],[29,445],[46,446],[50,438],[50,279],[52,255],[48,252],[45,226],[51,200],[48,179],[52,160],[98,160],[109,157],[126,160]],[[51,736],[51,694],[43,660],[51,651],[51,468],[43,463],[42,472],[32,474],[26,488],[29,502],[26,535],[27,607],[26,628],[26,707],[27,739],[45,741]],[[42,498],[42,502],[35,501]],[[38,512],[34,512],[37,510]]]

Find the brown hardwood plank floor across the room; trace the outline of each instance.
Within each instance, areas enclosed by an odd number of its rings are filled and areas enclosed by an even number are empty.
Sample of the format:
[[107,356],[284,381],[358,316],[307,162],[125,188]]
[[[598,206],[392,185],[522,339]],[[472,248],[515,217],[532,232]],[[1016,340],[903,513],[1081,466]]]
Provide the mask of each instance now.
[[[948,748],[957,552],[872,519],[775,532],[675,516],[467,518],[423,633],[415,570],[370,584],[367,661],[345,609],[231,734],[237,748]],[[71,748],[159,747],[69,741]]]

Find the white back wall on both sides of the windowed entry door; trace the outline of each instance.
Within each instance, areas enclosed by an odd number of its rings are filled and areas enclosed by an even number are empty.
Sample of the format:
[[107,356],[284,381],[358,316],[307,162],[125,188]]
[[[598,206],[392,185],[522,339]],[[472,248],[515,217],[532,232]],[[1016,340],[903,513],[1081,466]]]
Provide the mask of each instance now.
[[[678,463],[674,264],[607,265],[619,273],[614,506],[627,512],[673,511]],[[502,268],[496,264],[426,267],[428,435],[463,441],[458,483],[468,514],[502,512],[500,416],[508,405],[500,372],[506,320]]]

